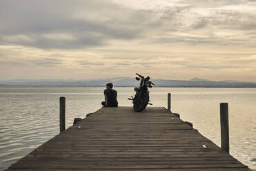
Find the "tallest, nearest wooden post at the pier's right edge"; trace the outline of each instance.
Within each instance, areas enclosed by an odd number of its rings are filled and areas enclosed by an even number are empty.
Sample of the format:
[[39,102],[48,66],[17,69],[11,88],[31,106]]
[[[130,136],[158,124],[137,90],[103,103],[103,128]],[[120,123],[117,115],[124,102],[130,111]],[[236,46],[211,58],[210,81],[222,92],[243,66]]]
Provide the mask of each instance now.
[[221,149],[229,154],[228,103],[220,103]]

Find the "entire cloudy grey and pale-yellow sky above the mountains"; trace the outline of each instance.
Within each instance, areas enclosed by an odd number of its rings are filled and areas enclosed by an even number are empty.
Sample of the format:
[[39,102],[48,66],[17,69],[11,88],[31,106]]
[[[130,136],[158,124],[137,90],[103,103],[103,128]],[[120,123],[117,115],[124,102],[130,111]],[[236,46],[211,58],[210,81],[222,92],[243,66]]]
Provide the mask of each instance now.
[[0,68],[0,79],[256,81],[256,0],[2,0]]

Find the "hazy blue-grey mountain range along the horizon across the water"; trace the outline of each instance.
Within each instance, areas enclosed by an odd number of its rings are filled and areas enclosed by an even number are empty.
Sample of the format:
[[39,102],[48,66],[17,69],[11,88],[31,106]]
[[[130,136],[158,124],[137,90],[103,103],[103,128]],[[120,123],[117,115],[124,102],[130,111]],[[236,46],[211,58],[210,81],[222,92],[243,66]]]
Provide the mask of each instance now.
[[[108,79],[17,79],[0,81],[0,86],[105,86],[112,82],[114,86],[139,86],[139,81],[133,77],[116,77]],[[204,88],[256,88],[256,83],[242,81],[210,81],[194,78],[190,80],[152,79],[157,87],[204,87]]]

